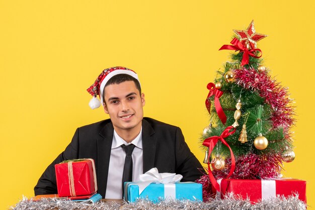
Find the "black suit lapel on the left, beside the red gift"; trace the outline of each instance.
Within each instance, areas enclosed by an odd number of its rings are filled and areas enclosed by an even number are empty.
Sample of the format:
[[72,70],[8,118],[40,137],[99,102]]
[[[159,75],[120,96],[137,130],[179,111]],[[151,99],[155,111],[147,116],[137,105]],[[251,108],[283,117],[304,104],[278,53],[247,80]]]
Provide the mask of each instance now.
[[113,124],[108,123],[99,133],[99,139],[97,141],[97,180],[98,180],[98,193],[105,197],[109,160],[111,156],[111,148],[113,142]]

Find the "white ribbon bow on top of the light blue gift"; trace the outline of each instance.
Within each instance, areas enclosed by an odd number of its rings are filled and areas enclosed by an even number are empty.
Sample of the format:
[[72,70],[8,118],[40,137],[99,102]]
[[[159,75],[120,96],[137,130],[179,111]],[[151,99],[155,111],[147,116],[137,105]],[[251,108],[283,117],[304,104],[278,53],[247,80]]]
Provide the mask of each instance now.
[[156,184],[177,183],[182,178],[183,176],[181,174],[159,173],[157,168],[151,168],[144,174],[140,174],[141,182],[137,182],[137,185],[139,186],[139,195],[150,183],[156,183]]

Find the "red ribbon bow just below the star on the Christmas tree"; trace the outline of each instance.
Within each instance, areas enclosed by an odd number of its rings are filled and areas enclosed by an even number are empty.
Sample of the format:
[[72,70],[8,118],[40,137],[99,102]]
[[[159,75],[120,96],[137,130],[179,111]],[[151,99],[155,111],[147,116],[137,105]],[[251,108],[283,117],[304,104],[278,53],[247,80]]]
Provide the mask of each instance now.
[[[234,38],[230,43],[232,45],[223,45],[219,50],[240,50],[240,52],[244,52],[241,63],[242,66],[248,64],[250,56],[254,58],[260,58],[262,56],[262,51],[260,49],[248,50],[237,38]],[[260,56],[256,56],[254,54],[255,51],[259,51],[261,53]]]

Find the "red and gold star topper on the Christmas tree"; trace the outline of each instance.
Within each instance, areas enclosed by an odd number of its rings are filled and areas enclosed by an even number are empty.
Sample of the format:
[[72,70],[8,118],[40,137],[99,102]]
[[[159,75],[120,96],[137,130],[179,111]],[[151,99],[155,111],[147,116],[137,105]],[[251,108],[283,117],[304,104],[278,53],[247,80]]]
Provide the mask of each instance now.
[[247,49],[256,49],[257,42],[267,37],[265,34],[258,34],[255,32],[254,20],[251,22],[246,30],[233,30],[235,34],[240,38],[241,43],[247,47]]

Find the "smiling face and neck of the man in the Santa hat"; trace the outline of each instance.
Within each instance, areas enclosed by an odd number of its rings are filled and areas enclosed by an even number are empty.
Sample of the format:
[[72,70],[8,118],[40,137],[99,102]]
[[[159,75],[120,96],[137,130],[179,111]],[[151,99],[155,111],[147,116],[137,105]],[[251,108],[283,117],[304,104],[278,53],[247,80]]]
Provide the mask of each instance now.
[[134,81],[110,84],[104,93],[104,111],[109,114],[116,132],[140,131],[145,100]]

